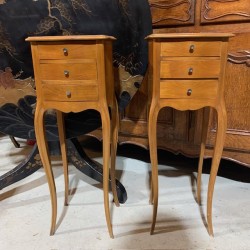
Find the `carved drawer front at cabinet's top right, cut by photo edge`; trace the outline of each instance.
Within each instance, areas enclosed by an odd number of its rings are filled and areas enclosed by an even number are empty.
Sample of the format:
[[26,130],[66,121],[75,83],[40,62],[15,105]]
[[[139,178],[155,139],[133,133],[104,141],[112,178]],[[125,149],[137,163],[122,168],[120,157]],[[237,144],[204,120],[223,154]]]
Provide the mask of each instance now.
[[202,0],[201,23],[250,20],[249,0]]

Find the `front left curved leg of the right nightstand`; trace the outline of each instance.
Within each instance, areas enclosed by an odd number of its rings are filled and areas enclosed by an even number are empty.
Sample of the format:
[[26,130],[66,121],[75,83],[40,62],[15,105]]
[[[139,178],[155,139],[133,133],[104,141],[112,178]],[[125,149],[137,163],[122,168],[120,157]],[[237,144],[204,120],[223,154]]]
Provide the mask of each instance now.
[[157,208],[158,208],[158,160],[157,160],[157,133],[156,133],[158,112],[159,110],[157,107],[151,106],[148,119],[149,151],[150,151],[150,161],[152,166],[151,197],[153,199],[153,219],[152,219],[150,234],[154,233]]

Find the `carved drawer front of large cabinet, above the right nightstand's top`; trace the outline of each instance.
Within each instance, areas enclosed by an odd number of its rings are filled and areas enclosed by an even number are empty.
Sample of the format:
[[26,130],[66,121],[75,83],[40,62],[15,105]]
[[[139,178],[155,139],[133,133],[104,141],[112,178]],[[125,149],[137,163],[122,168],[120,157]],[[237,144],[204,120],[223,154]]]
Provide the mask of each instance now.
[[194,0],[149,0],[153,26],[194,24]]

